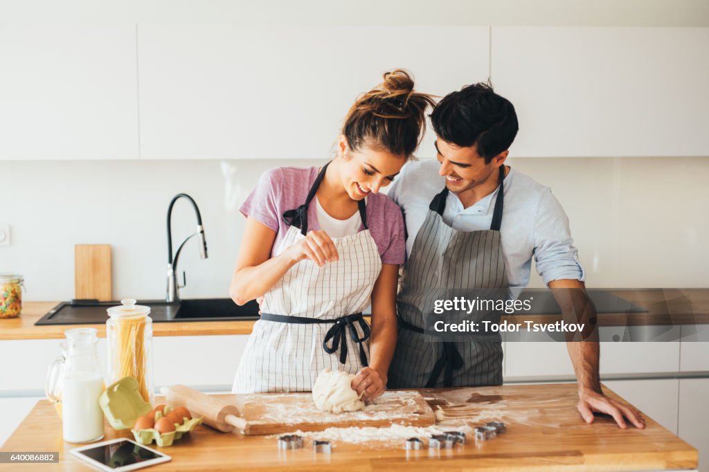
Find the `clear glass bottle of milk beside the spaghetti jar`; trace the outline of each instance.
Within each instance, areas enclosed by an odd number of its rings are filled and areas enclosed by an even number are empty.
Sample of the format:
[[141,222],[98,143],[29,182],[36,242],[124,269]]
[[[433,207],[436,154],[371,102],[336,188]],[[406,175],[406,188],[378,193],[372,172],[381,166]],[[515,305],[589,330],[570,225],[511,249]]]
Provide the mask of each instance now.
[[[54,361],[48,376],[60,378],[64,440],[98,441],[104,437],[104,412],[99,405],[104,377],[96,355],[96,330],[75,328],[65,331],[64,335],[67,351],[64,357]],[[60,372],[58,376],[55,371]]]

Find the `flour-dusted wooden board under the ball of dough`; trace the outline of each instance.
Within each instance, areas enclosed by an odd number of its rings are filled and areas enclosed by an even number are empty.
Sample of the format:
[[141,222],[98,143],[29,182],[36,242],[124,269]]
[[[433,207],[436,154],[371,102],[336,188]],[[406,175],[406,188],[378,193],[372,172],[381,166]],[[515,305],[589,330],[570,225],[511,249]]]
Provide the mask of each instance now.
[[322,431],[330,427],[430,426],[433,410],[414,390],[389,390],[356,412],[329,413],[316,408],[311,393],[255,393],[242,398],[245,434]]

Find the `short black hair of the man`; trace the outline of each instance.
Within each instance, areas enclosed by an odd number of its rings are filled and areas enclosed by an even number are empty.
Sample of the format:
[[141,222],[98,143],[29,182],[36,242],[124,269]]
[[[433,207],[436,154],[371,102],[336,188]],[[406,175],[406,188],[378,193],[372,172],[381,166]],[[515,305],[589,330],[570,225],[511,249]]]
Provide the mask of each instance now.
[[438,137],[460,147],[476,144],[486,164],[509,149],[519,129],[512,103],[482,82],[447,94],[430,117]]

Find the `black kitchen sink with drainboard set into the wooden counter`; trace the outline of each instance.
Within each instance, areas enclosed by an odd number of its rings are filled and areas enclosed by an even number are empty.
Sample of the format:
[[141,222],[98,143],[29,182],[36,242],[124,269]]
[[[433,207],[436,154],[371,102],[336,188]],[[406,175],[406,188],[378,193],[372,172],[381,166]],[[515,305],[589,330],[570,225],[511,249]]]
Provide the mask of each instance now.
[[[52,308],[35,325],[101,324],[108,320],[106,309],[121,305],[120,301],[62,302]],[[167,303],[164,300],[138,300],[138,305],[150,307],[153,322],[170,321],[235,321],[258,320],[259,305],[251,300],[239,306],[231,298],[192,298]]]

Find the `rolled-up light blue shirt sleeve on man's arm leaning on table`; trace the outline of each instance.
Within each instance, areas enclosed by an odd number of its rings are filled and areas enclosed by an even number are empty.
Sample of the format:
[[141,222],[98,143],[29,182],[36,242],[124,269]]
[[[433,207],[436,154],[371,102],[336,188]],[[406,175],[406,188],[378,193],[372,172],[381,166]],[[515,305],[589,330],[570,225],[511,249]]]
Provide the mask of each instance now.
[[571,238],[569,218],[549,189],[542,194],[537,208],[534,259],[537,272],[547,285],[560,279],[586,279],[586,271],[579,262],[579,251]]

